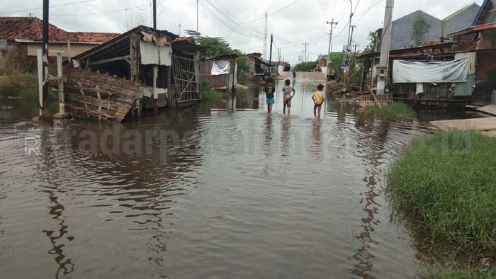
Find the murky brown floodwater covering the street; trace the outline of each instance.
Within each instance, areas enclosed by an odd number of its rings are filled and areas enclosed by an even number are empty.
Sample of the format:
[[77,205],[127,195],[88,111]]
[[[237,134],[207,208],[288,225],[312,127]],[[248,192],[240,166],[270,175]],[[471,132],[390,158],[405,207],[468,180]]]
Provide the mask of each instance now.
[[330,96],[316,121],[316,84],[291,118],[280,92],[120,125],[0,106],[0,278],[415,278],[385,175],[427,126]]

